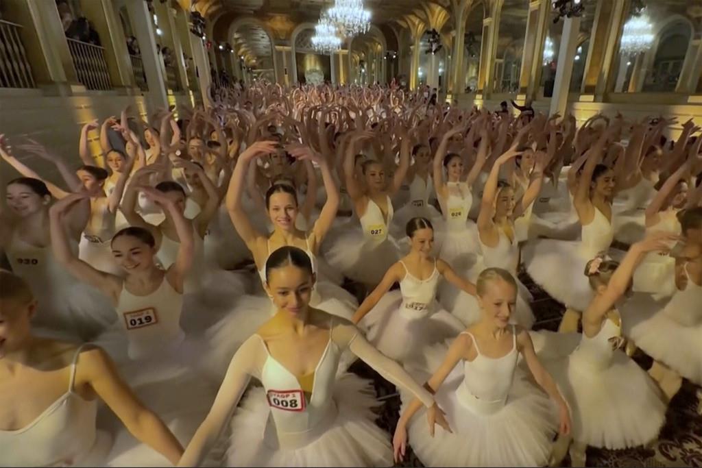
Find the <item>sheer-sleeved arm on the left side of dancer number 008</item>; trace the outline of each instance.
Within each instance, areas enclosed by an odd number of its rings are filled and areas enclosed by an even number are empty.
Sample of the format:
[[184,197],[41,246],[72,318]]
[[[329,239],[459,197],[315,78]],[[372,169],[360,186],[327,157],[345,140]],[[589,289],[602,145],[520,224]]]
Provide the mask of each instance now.
[[210,412],[185,448],[178,467],[199,467],[215,446],[217,439],[237,407],[241,396],[255,373],[260,353],[260,338],[252,336],[237,349],[230,362]]

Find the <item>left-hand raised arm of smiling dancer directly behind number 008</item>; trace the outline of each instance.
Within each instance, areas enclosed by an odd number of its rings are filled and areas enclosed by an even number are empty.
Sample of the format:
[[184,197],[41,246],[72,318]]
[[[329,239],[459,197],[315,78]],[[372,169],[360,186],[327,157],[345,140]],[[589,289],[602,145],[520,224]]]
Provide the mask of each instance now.
[[237,166],[234,167],[232,179],[229,182],[229,189],[227,189],[226,206],[230,218],[232,218],[232,224],[252,252],[255,250],[256,239],[263,236],[263,234],[260,234],[253,227],[249,220],[249,215],[246,215],[243,206],[241,206],[241,195],[244,192],[244,177],[248,172],[251,161],[263,154],[274,152],[275,146],[276,142],[274,141],[260,141],[246,148],[246,151],[239,156]]

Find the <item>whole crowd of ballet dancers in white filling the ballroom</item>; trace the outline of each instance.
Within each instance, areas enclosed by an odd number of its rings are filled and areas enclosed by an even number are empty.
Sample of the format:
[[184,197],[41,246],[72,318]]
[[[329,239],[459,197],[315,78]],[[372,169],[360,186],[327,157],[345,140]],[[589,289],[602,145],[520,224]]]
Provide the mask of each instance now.
[[702,385],[691,120],[263,82],[143,117],[0,135],[0,466],[585,466]]

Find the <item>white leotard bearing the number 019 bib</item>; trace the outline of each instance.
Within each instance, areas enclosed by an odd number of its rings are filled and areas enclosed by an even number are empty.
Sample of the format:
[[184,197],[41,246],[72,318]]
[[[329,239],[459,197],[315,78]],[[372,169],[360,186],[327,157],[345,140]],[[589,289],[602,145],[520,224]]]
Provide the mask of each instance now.
[[178,348],[185,339],[180,328],[182,307],[183,295],[165,275],[157,290],[144,296],[130,293],[123,285],[115,309],[126,330],[129,357],[147,359]]

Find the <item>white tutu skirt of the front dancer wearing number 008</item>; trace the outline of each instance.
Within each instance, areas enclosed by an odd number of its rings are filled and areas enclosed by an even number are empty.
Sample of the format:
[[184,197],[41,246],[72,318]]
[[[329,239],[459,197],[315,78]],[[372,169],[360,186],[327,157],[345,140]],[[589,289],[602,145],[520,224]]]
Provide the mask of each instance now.
[[[306,446],[279,448],[275,432],[267,439],[270,415],[265,391],[249,389],[234,412],[226,465],[230,467],[390,467],[390,434],[376,426],[378,401],[367,380],[353,374],[337,377],[333,400],[336,418],[319,428]],[[271,440],[273,439],[273,440]]]

